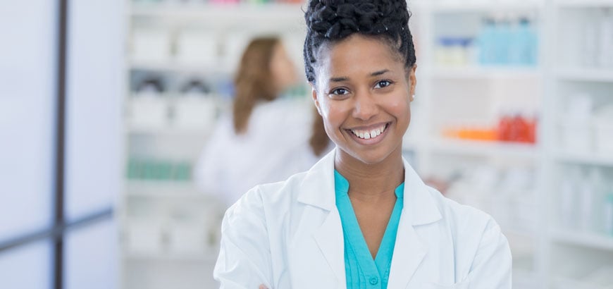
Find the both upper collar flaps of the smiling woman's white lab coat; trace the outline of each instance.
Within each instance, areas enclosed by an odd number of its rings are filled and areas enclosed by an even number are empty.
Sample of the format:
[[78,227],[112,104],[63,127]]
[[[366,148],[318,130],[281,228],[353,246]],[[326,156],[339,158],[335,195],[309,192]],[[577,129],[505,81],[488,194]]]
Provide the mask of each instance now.
[[[323,156],[304,177],[298,202],[331,211],[336,207],[334,194],[334,159],[336,149]],[[411,215],[411,224],[425,225],[440,220],[440,210],[428,187],[423,183],[406,159],[404,163],[404,214]]]

